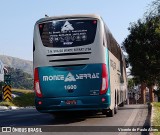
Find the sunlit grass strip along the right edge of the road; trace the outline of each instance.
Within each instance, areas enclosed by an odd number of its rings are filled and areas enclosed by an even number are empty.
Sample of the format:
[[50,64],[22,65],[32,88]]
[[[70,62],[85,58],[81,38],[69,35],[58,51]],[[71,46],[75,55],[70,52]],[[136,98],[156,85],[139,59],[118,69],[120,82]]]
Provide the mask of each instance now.
[[[154,108],[153,126],[160,126],[160,102],[153,102]],[[154,135],[160,135],[160,132],[153,132]]]

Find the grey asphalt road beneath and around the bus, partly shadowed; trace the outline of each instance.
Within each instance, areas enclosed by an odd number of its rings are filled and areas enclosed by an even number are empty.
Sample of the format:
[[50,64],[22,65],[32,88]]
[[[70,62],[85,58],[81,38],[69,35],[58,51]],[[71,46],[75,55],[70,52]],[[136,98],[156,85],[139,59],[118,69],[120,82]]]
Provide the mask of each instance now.
[[[58,126],[56,132],[53,134],[113,134],[113,135],[147,135],[148,132],[105,132],[112,128],[124,126],[149,126],[150,125],[150,111],[148,111],[147,105],[125,105],[120,107],[118,113],[114,117],[106,117],[100,113],[98,114],[84,114],[81,112],[78,115],[70,115],[68,117],[61,117],[55,119],[50,114],[42,114],[36,111],[36,109],[18,109],[18,110],[7,110],[0,111],[0,127],[43,127],[42,131],[53,131],[54,126]],[[59,127],[61,126],[61,127]],[[70,129],[66,130],[66,126]],[[88,130],[85,128],[89,126]],[[106,130],[104,130],[104,127]],[[110,127],[111,126],[111,127]],[[118,127],[117,127],[118,126]],[[98,127],[98,128],[97,128]],[[43,130],[44,129],[44,130]],[[63,131],[64,130],[64,131]],[[70,130],[72,132],[70,132]],[[75,131],[79,131],[75,134]],[[84,132],[82,132],[84,130]],[[91,132],[91,130],[94,131]],[[104,132],[102,132],[102,131]],[[61,132],[58,132],[61,131]],[[89,131],[89,132],[85,132]],[[74,132],[74,133],[73,133]],[[22,134],[22,133],[21,133]],[[40,134],[40,133],[37,133]],[[43,133],[49,134],[49,133]]]

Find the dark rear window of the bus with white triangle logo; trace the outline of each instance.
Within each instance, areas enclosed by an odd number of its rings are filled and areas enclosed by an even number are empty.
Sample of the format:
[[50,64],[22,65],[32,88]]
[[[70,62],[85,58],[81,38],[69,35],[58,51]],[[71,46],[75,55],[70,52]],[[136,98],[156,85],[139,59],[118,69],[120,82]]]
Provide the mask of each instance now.
[[63,20],[39,24],[41,40],[46,47],[75,47],[92,44],[97,20]]

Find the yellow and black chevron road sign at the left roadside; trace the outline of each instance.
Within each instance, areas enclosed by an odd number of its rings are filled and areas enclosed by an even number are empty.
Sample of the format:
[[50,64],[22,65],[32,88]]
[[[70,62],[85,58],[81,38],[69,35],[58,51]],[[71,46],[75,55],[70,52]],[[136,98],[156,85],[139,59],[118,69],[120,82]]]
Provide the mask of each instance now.
[[11,86],[10,85],[4,85],[3,86],[3,100],[5,101],[11,101],[12,95],[11,95]]

